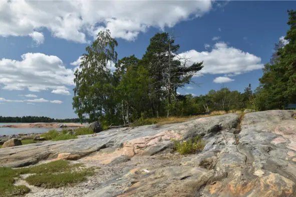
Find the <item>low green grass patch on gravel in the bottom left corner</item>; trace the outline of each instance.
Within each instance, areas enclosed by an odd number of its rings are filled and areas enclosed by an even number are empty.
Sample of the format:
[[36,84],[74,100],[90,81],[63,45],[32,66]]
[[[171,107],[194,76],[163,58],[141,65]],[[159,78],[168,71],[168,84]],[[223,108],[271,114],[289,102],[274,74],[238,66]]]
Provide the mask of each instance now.
[[57,188],[80,182],[94,174],[95,168],[84,168],[82,164],[70,165],[69,161],[57,160],[23,168],[0,167],[0,196],[23,195],[30,192],[25,185],[14,185],[21,174],[34,173],[25,180],[35,186]]

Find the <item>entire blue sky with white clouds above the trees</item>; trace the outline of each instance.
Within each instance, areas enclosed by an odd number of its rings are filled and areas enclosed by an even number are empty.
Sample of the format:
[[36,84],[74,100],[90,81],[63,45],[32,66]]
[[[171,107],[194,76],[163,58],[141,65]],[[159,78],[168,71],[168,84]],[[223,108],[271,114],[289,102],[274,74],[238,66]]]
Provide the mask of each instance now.
[[296,1],[0,0],[0,115],[77,117],[74,71],[105,29],[118,41],[119,59],[141,58],[155,33],[173,32],[179,54],[204,65],[181,94],[255,89],[294,7]]

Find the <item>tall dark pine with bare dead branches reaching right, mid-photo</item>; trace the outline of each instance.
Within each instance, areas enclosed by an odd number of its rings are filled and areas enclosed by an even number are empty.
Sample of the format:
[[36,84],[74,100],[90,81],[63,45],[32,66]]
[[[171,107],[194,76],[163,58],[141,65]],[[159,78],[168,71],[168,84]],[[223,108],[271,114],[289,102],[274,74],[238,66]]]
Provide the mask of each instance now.
[[169,116],[172,99],[176,99],[177,88],[189,83],[192,75],[203,67],[202,62],[188,66],[188,59],[178,55],[180,46],[174,44],[174,38],[167,32],[156,33],[150,39],[141,61],[154,80],[151,84],[154,114],[158,114],[161,100],[166,99],[167,116]]

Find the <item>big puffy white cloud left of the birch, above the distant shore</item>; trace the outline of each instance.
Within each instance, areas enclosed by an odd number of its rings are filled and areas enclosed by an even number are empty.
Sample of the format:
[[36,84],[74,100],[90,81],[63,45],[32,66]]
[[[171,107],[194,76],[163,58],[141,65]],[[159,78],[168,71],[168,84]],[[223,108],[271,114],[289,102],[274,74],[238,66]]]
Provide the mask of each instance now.
[[0,84],[4,89],[41,91],[53,89],[55,93],[67,92],[74,85],[72,69],[54,55],[26,53],[22,60],[0,59]]

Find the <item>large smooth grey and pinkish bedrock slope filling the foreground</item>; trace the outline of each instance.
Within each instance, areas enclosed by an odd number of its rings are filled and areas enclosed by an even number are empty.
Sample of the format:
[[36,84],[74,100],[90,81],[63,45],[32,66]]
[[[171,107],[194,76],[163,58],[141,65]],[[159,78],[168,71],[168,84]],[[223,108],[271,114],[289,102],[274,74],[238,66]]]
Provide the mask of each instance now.
[[[295,110],[234,113],[183,123],[109,129],[94,137],[0,149],[0,165],[70,159],[100,172],[75,187],[28,196],[296,196]],[[171,152],[171,138],[206,141]]]

